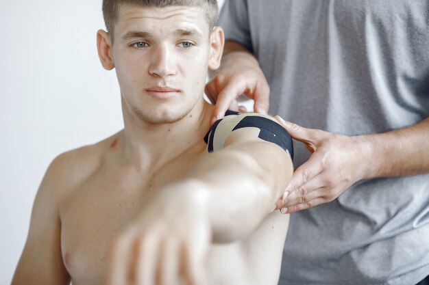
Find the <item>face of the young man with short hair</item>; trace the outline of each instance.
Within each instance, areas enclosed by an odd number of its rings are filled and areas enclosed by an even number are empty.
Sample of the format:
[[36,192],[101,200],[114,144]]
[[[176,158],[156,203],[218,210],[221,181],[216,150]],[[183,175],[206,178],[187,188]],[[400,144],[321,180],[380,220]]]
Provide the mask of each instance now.
[[145,122],[184,118],[202,100],[209,37],[199,8],[123,5],[112,58],[125,108]]

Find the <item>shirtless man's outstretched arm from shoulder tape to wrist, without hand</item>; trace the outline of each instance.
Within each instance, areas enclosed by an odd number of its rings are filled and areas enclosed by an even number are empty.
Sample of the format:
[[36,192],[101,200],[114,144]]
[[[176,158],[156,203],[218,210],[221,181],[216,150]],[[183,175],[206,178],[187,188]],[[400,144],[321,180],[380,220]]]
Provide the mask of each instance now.
[[190,175],[210,189],[208,210],[215,243],[252,233],[273,211],[275,198],[291,179],[291,157],[280,146],[259,139],[259,131],[232,132],[225,148],[199,161]]

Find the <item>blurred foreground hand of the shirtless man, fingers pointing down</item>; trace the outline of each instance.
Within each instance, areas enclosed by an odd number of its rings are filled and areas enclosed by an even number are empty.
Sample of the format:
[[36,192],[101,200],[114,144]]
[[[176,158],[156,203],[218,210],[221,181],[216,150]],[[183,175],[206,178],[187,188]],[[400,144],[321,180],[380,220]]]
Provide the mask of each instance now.
[[185,185],[160,191],[112,244],[108,284],[206,284],[211,232],[204,193]]

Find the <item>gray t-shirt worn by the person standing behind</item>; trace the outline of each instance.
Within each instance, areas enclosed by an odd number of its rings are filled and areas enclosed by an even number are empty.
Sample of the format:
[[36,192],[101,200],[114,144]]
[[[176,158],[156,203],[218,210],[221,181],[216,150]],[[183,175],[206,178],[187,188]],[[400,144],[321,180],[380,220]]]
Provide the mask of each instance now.
[[[258,58],[272,114],[343,135],[429,116],[428,0],[226,0],[219,25]],[[308,156],[295,141],[295,167]],[[427,275],[429,175],[360,181],[291,215],[280,284],[411,285]]]

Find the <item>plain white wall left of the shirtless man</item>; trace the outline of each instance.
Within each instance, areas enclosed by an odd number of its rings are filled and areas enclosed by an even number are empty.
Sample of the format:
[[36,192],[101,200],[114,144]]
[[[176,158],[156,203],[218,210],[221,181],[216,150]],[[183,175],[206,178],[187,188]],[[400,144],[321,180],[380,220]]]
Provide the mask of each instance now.
[[101,0],[0,0],[0,284],[12,281],[52,159],[123,128],[100,28]]

